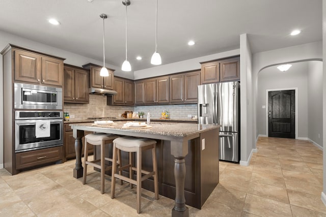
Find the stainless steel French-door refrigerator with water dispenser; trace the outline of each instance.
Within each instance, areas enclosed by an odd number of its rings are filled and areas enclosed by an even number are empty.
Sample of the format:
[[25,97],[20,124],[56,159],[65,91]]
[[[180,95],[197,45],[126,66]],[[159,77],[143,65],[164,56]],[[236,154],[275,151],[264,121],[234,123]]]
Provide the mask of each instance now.
[[240,84],[238,81],[198,86],[198,121],[221,125],[219,158],[240,161]]

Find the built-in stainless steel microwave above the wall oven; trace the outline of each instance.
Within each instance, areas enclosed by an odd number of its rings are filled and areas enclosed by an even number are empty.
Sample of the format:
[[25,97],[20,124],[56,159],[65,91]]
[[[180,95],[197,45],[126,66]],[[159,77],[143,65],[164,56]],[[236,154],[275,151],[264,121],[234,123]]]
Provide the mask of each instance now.
[[62,109],[62,88],[14,83],[15,109]]

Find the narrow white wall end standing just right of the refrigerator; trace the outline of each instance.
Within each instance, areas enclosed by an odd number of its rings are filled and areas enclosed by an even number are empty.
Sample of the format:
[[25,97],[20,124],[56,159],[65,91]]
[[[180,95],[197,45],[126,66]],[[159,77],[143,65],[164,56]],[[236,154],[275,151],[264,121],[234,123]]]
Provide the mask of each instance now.
[[252,53],[247,34],[240,35],[240,165],[248,166],[253,142]]

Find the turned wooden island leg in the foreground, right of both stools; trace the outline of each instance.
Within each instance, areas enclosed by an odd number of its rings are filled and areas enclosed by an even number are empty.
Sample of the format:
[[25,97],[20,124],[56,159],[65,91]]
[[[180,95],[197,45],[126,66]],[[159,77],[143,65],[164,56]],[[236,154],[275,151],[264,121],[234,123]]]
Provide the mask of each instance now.
[[185,156],[188,154],[188,140],[171,141],[171,154],[174,156],[175,205],[172,216],[189,216],[184,198]]

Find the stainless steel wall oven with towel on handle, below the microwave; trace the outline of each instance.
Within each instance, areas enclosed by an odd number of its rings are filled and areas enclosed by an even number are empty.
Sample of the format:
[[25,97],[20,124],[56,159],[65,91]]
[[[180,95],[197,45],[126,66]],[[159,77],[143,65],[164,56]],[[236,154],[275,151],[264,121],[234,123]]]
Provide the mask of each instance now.
[[[62,117],[62,111],[15,111],[15,152],[63,145]],[[36,135],[41,120],[49,123],[48,135],[44,137]]]

